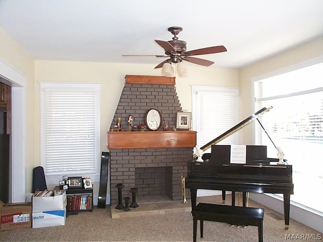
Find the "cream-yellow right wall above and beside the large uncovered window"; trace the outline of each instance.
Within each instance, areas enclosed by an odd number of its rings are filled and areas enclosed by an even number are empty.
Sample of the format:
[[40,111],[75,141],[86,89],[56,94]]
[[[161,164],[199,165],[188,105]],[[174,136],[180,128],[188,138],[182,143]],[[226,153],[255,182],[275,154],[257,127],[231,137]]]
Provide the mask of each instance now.
[[[239,116],[248,117],[252,110],[251,79],[323,56],[323,37],[239,70]],[[239,131],[240,144],[252,144],[252,125]]]

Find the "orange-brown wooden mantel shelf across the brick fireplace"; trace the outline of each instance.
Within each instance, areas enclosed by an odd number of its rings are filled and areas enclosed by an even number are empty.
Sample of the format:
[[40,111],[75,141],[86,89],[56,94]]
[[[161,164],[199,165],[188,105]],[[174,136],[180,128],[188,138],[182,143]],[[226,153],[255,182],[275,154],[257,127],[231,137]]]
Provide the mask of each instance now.
[[195,147],[196,131],[108,131],[107,144],[108,149]]

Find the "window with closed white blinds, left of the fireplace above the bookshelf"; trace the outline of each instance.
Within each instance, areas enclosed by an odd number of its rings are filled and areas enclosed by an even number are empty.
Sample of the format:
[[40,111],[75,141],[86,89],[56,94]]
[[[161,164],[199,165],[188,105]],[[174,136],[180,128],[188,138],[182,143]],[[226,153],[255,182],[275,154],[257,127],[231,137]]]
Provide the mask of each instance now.
[[41,83],[41,165],[47,184],[63,175],[96,180],[100,164],[100,84]]

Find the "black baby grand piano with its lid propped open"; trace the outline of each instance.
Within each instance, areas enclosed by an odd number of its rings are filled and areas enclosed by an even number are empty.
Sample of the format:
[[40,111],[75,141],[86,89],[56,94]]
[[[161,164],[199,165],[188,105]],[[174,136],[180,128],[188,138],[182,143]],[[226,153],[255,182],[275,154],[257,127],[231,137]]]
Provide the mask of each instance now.
[[[222,191],[223,199],[225,199],[225,191],[232,191],[232,206],[235,206],[235,192],[243,192],[243,206],[246,206],[246,194],[249,192],[283,194],[285,229],[288,229],[290,195],[294,194],[292,165],[279,165],[277,164],[278,159],[266,157],[265,159],[262,159],[261,156],[263,156],[263,154],[257,154],[259,153],[259,150],[256,146],[249,147],[249,155],[247,147],[247,158],[245,164],[230,163],[230,160],[228,161],[228,159],[230,159],[230,150],[229,158],[226,158],[228,157],[226,152],[222,152],[222,154],[214,153],[219,150],[221,151],[221,149],[230,149],[230,146],[219,146],[220,149],[215,149],[218,148],[215,146],[221,140],[246,126],[254,119],[258,120],[259,116],[269,111],[271,108],[272,107],[264,107],[260,109],[224,134],[202,146],[200,149],[203,151],[208,148],[211,148],[212,150],[208,160],[197,162],[196,159],[194,159],[197,156],[193,155],[193,159],[188,161],[185,187],[190,189],[191,192],[192,210],[194,210],[196,206],[197,189]],[[261,125],[260,122],[259,124]],[[262,153],[261,150],[263,150],[263,147],[259,148],[260,153]],[[253,151],[256,154],[254,154]]]

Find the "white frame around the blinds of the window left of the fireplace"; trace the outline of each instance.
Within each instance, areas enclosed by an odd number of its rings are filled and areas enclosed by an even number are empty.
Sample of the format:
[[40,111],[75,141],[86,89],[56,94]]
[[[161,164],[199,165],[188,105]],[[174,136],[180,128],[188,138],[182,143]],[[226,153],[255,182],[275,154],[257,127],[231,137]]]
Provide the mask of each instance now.
[[[71,91],[77,90],[89,90],[93,89],[95,93],[94,97],[94,172],[93,173],[82,173],[77,174],[78,176],[82,177],[91,177],[92,182],[99,181],[100,175],[100,84],[99,83],[79,83],[79,82],[39,82],[40,83],[40,165],[46,167],[45,162],[45,89],[57,89],[57,90],[66,90],[69,89]],[[64,174],[67,176],[73,176],[75,174]],[[47,185],[58,185],[59,181],[62,180],[62,175],[46,175],[46,183]]]

